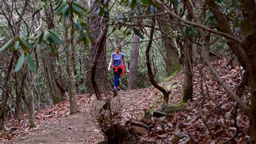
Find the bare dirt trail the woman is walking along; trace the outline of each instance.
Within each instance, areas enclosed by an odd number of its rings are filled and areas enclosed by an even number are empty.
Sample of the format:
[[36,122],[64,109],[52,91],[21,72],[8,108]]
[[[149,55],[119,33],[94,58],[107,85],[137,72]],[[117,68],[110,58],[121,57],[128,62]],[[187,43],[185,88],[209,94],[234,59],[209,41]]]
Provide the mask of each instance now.
[[[143,116],[143,108],[152,104],[152,99],[145,89],[136,91],[121,91],[120,101],[122,105],[122,123],[129,119],[137,119]],[[115,99],[118,99],[116,97]],[[23,134],[9,141],[14,143],[97,143],[103,140],[103,135],[97,127],[91,112],[95,105],[102,107],[104,101],[93,101],[79,113],[59,119],[51,124],[45,124],[35,131]]]

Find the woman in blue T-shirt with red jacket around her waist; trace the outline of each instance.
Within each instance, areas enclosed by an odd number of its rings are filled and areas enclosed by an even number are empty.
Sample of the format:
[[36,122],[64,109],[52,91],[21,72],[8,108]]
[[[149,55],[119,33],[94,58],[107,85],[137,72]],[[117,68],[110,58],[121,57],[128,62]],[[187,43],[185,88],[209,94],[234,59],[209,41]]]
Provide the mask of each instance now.
[[124,76],[124,68],[126,68],[126,72],[129,73],[128,67],[125,62],[124,53],[120,52],[121,45],[117,45],[116,52],[113,52],[111,54],[111,58],[109,61],[109,68],[108,71],[110,71],[110,66],[113,67],[114,72],[114,87],[112,89],[113,92],[120,92],[119,88],[119,76],[122,73],[122,76]]

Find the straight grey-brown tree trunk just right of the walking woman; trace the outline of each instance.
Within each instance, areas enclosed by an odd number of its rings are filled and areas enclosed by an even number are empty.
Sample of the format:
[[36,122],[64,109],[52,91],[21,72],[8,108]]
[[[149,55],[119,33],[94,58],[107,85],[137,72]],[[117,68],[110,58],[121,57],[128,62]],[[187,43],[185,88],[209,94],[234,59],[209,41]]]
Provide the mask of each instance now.
[[130,73],[128,78],[128,90],[133,90],[136,88],[137,83],[137,65],[138,65],[138,56],[139,56],[139,36],[133,34],[132,36],[132,52],[130,60]]

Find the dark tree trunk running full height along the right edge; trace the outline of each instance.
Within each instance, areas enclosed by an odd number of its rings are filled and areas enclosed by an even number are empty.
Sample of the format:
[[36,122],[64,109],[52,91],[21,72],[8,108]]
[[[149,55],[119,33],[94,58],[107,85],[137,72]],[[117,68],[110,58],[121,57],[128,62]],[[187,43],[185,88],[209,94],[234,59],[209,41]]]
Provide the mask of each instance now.
[[247,56],[246,68],[251,84],[250,136],[256,143],[256,4],[254,1],[241,1],[244,15],[245,39],[242,43]]

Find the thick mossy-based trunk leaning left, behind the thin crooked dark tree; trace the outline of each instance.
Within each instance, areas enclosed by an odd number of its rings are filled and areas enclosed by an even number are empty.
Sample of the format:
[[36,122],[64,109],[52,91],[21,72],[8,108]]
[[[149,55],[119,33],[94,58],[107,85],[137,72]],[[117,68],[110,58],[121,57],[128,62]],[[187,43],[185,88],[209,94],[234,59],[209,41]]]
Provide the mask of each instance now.
[[[163,8],[159,9],[159,12],[164,12]],[[163,16],[157,19],[158,25],[161,32],[161,40],[164,44],[166,50],[166,68],[167,68],[167,76],[172,76],[172,74],[177,73],[180,70],[179,63],[179,53],[174,44],[174,38],[172,36],[171,24],[169,23],[169,19],[167,16]]]

